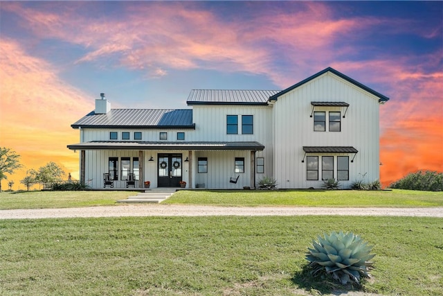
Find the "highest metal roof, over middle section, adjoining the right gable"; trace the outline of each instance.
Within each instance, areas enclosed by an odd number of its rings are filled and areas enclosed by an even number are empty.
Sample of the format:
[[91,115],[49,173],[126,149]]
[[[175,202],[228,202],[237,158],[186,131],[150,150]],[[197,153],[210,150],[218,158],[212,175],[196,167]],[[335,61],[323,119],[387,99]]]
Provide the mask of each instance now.
[[280,90],[192,89],[188,105],[268,105],[270,96]]

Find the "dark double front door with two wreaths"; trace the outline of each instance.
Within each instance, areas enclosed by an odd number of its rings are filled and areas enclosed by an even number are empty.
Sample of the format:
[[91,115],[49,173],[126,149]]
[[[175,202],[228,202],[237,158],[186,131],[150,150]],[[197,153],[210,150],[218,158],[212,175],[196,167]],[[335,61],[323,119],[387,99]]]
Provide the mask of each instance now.
[[159,154],[159,187],[179,187],[181,154]]

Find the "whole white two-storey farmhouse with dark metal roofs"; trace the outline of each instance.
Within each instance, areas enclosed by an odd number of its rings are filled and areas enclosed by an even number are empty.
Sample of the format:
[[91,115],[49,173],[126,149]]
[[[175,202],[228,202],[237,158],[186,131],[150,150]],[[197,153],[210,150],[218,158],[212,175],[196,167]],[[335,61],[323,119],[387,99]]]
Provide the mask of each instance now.
[[379,104],[389,98],[332,68],[278,90],[193,89],[192,109],[96,110],[80,130],[80,181],[94,189],[343,188],[379,179]]

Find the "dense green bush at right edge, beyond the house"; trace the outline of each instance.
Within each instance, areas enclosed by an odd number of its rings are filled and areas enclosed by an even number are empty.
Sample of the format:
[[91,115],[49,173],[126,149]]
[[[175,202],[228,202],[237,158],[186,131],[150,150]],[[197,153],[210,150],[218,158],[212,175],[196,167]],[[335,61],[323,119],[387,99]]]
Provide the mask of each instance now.
[[417,171],[393,182],[389,185],[389,188],[443,191],[443,173],[437,173],[436,171]]

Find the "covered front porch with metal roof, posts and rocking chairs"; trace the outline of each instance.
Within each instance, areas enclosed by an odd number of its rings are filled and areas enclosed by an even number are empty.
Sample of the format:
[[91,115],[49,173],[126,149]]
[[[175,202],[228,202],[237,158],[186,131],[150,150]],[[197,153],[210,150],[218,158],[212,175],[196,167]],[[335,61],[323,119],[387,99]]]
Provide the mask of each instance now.
[[96,141],[68,148],[80,150],[80,182],[93,189],[242,189],[255,187],[255,153],[264,146]]

